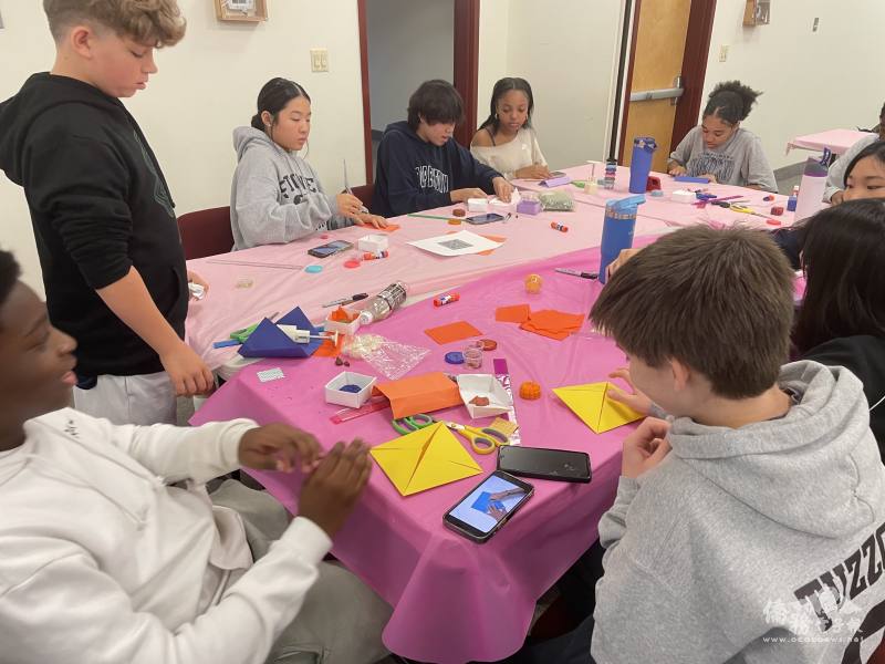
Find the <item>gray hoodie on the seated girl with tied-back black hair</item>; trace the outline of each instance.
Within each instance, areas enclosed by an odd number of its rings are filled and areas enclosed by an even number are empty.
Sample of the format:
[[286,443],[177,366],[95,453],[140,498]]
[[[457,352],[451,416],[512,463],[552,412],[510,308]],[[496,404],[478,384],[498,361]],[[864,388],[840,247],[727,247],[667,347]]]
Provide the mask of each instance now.
[[253,127],[233,129],[237,170],[230,188],[233,250],[291,242],[320,230],[353,226],[337,215],[316,172]]

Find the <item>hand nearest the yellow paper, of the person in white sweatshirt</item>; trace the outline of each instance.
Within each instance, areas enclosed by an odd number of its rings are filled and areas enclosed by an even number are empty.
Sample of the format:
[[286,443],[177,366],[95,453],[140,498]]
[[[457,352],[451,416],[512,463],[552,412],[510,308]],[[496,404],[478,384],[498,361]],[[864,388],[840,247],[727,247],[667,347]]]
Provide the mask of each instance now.
[[358,439],[350,445],[335,443],[304,483],[299,516],[334,537],[356,506],[371,473],[372,460],[365,443]]

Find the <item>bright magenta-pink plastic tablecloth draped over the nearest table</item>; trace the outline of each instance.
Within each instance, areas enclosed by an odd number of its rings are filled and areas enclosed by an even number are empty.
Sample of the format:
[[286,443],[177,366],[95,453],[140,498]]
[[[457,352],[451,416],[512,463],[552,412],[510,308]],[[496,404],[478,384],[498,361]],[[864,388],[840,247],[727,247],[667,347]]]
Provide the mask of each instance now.
[[[593,468],[590,485],[533,480],[535,496],[523,510],[488,543],[475,544],[447,530],[442,515],[479,483],[479,476],[403,498],[376,467],[358,508],[335,539],[334,552],[395,606],[384,632],[392,651],[441,664],[511,654],[528,631],[535,600],[596,538],[600,516],[614,497],[621,442],[629,429],[593,434],[551,390],[604,381],[624,363],[624,355],[600,338],[573,335],[558,342],[523,332],[516,324],[498,323],[494,309],[529,302],[533,309],[585,312],[600,287],[595,281],[555,273],[553,268],[587,270],[597,261],[597,250],[587,249],[488,274],[459,289],[461,299],[455,304],[435,309],[430,301],[419,302],[364,330],[431,349],[412,375],[461,373],[445,364],[442,356],[464,343],[440,346],[424,330],[469,321],[499,344],[497,351],[486,353],[483,370],[491,371],[492,357],[504,357],[514,388],[525,380],[542,385],[540,401],[516,400],[522,443],[585,450]],[[524,290],[523,279],[530,271],[544,280],[538,295]],[[377,375],[364,362],[353,361],[352,365],[353,371]],[[285,378],[260,383],[256,372],[274,366],[282,367]],[[324,446],[355,436],[372,445],[394,438],[388,409],[341,425],[330,422],[340,407],[324,403],[323,385],[340,371],[325,357],[262,361],[221,387],[191,422],[240,416],[261,423],[289,422],[313,432]],[[436,415],[470,422],[464,407]],[[494,467],[493,456],[475,456],[485,470]],[[283,505],[296,510],[299,477],[254,475]]]

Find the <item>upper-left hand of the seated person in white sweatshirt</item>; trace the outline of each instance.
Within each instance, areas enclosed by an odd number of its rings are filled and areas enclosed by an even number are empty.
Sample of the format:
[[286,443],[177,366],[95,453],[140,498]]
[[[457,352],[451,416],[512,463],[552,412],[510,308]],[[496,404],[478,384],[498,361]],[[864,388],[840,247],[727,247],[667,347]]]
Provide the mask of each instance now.
[[320,444],[311,434],[288,424],[269,424],[243,434],[239,459],[247,468],[290,473],[300,466],[308,475],[320,465]]

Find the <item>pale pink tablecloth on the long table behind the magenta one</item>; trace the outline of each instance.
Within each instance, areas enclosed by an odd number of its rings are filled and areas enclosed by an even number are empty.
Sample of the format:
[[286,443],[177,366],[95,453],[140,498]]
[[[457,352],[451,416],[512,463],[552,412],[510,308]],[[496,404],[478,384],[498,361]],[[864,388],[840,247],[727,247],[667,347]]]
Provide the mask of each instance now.
[[[447,207],[420,214],[450,216],[452,209],[454,207]],[[550,222],[553,220],[569,226],[569,232],[551,229]],[[214,349],[214,342],[225,340],[232,331],[274,312],[285,313],[294,307],[301,307],[312,321],[319,323],[331,311],[322,308],[323,302],[360,292],[374,294],[393,281],[405,281],[409,286],[409,294],[416,297],[457,288],[512,266],[525,264],[582,247],[596,247],[602,240],[603,210],[579,206],[574,212],[542,212],[535,217],[520,215],[519,219],[513,217],[506,224],[485,226],[450,226],[441,219],[408,216],[397,217],[392,221],[402,225],[402,228],[387,234],[391,257],[363,262],[356,269],[344,267],[348,252],[326,259],[309,256],[309,249],[329,241],[319,236],[288,245],[256,247],[188,261],[188,268],[210,284],[207,297],[190,304],[187,318],[188,344],[216,370],[239,355],[236,347]],[[506,241],[488,256],[452,258],[434,256],[407,245],[412,240],[462,229],[506,238]],[[636,224],[636,235],[664,232],[666,229],[667,225],[659,219],[642,218]],[[357,238],[369,232],[376,231],[372,228],[350,227],[330,234],[330,238],[355,243]],[[321,264],[323,271],[311,274],[303,269],[238,266],[215,261],[302,267]],[[585,268],[592,269],[593,266]],[[251,288],[237,288],[242,279],[251,280]]]

